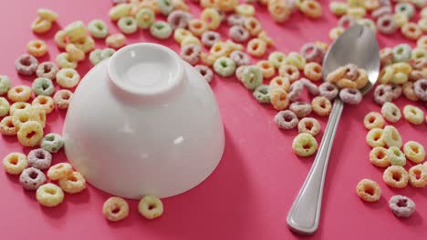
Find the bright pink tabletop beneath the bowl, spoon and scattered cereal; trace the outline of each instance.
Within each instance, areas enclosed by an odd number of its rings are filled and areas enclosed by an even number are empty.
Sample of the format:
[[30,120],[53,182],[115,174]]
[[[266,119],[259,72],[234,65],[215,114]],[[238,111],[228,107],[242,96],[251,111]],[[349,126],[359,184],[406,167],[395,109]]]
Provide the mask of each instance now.
[[[324,2],[327,10],[328,3]],[[36,18],[36,8],[51,8],[59,14],[59,25],[47,35],[39,36],[49,45],[50,57],[42,59],[47,60],[57,55],[52,38],[60,26],[78,19],[85,23],[94,18],[108,20],[110,2],[15,0],[3,1],[3,6],[0,73],[9,75],[14,85],[30,85],[32,78],[16,75],[14,61],[25,53],[26,43],[37,37],[29,27]],[[193,10],[199,12],[195,7]],[[317,21],[296,13],[285,25],[273,24],[264,7],[259,7],[258,15],[266,32],[276,40],[277,49],[288,52],[298,50],[307,41],[328,41],[328,29],[336,25],[337,19],[324,12]],[[115,26],[109,26],[110,32],[118,32]],[[154,40],[149,33],[139,32],[130,35],[128,43],[146,41]],[[381,46],[402,41],[400,34],[380,36]],[[172,40],[161,43],[178,49]],[[97,45],[102,46],[103,42],[98,41]],[[85,61],[78,71],[84,75],[89,68]],[[368,160],[370,147],[365,144],[367,131],[362,119],[370,110],[380,111],[372,103],[371,94],[361,105],[346,106],[344,110],[329,161],[318,232],[300,237],[287,229],[286,214],[313,157],[298,158],[292,154],[290,146],[297,131],[278,130],[272,120],[276,111],[270,105],[257,104],[234,78],[217,77],[211,85],[224,119],[224,157],[202,185],[164,199],[165,212],[161,218],[155,221],[141,218],[137,202],[130,201],[129,218],[110,224],[100,211],[109,195],[91,186],[79,195],[66,195],[62,205],[49,209],[38,205],[35,193],[23,190],[16,176],[0,173],[0,239],[425,239],[427,189],[411,186],[391,189],[382,183],[381,169],[370,165]],[[400,106],[407,103],[403,99],[397,102]],[[425,105],[416,105],[425,110]],[[46,132],[60,133],[65,115],[64,111],[48,115]],[[326,122],[327,118],[321,119],[322,127]],[[397,126],[404,141],[415,140],[426,145],[426,125],[413,126],[401,120]],[[321,135],[317,139],[320,141]],[[28,153],[29,149],[19,145],[16,137],[2,136],[0,157],[12,151]],[[66,161],[62,152],[54,155],[54,163],[62,161]],[[383,191],[380,202],[365,204],[359,200],[354,188],[361,178],[380,183]],[[387,202],[397,194],[410,196],[416,202],[417,212],[410,219],[401,220],[391,214]]]

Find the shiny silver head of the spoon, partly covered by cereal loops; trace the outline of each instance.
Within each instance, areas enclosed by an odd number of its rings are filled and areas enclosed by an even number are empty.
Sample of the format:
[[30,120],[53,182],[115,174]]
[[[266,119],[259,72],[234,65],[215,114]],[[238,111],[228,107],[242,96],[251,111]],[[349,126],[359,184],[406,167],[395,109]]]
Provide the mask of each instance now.
[[323,79],[339,66],[354,64],[365,69],[368,84],[359,89],[366,95],[380,75],[380,47],[375,33],[363,25],[352,25],[329,47],[323,59]]

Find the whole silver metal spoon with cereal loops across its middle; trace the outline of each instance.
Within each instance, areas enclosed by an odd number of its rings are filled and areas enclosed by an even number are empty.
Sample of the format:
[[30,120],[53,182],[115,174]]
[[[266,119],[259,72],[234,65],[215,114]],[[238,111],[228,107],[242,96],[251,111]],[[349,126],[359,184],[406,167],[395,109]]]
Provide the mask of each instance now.
[[[355,64],[364,68],[368,73],[369,83],[360,91],[362,95],[366,95],[380,73],[380,49],[375,34],[366,26],[351,26],[330,46],[323,63],[323,79],[342,65]],[[287,214],[287,225],[297,233],[313,234],[318,229],[330,149],[343,107],[343,102],[337,97],[318,148],[318,155]]]

